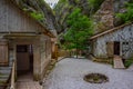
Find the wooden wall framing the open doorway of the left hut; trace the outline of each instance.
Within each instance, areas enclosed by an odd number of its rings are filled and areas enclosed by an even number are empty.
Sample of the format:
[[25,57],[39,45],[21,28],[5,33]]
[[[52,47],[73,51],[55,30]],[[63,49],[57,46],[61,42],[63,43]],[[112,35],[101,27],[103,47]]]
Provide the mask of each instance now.
[[30,37],[30,38],[18,37],[18,39],[9,40],[9,61],[10,61],[9,66],[12,66],[12,60],[14,60],[17,63],[17,46],[18,44],[32,44],[33,46],[33,79],[40,80],[41,78],[40,39],[38,37]]

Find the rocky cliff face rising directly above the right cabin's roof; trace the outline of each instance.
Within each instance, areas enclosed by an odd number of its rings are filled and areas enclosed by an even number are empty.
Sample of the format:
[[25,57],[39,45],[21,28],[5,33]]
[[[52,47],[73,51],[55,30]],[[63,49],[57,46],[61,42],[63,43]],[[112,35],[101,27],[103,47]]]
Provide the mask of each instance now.
[[121,26],[123,22],[116,13],[125,12],[125,3],[130,1],[132,0],[105,0],[93,16],[96,23],[94,32],[99,33]]

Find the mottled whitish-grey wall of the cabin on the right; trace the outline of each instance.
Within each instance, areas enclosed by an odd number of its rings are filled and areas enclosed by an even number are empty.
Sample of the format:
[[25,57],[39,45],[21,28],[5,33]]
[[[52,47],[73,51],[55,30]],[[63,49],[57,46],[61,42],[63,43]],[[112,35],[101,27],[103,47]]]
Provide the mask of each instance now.
[[[95,39],[95,47],[93,55],[98,58],[108,58],[106,42],[120,41],[121,42],[121,56],[123,55],[122,50],[124,49],[123,42],[129,42],[131,49],[133,49],[133,24],[126,26],[124,28],[117,29],[114,32],[106,33],[102,37]],[[123,48],[122,48],[123,47]],[[130,50],[124,55],[124,58],[130,58],[133,56],[133,50]]]

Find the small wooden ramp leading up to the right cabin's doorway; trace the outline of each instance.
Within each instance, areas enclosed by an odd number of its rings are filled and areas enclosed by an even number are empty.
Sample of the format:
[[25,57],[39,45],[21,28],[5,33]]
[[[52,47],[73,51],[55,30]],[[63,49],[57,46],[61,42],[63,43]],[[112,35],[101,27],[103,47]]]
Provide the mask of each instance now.
[[124,63],[123,63],[123,61],[122,61],[122,58],[121,58],[120,56],[114,56],[113,62],[114,62],[114,65],[113,65],[114,68],[120,68],[120,69],[125,68],[125,67],[124,67]]

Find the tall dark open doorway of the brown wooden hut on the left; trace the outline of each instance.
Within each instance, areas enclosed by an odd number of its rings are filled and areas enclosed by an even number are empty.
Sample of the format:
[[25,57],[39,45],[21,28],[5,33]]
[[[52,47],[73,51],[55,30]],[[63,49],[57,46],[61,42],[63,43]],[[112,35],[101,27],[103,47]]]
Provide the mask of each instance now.
[[17,46],[17,73],[25,75],[33,72],[33,49],[32,44]]

